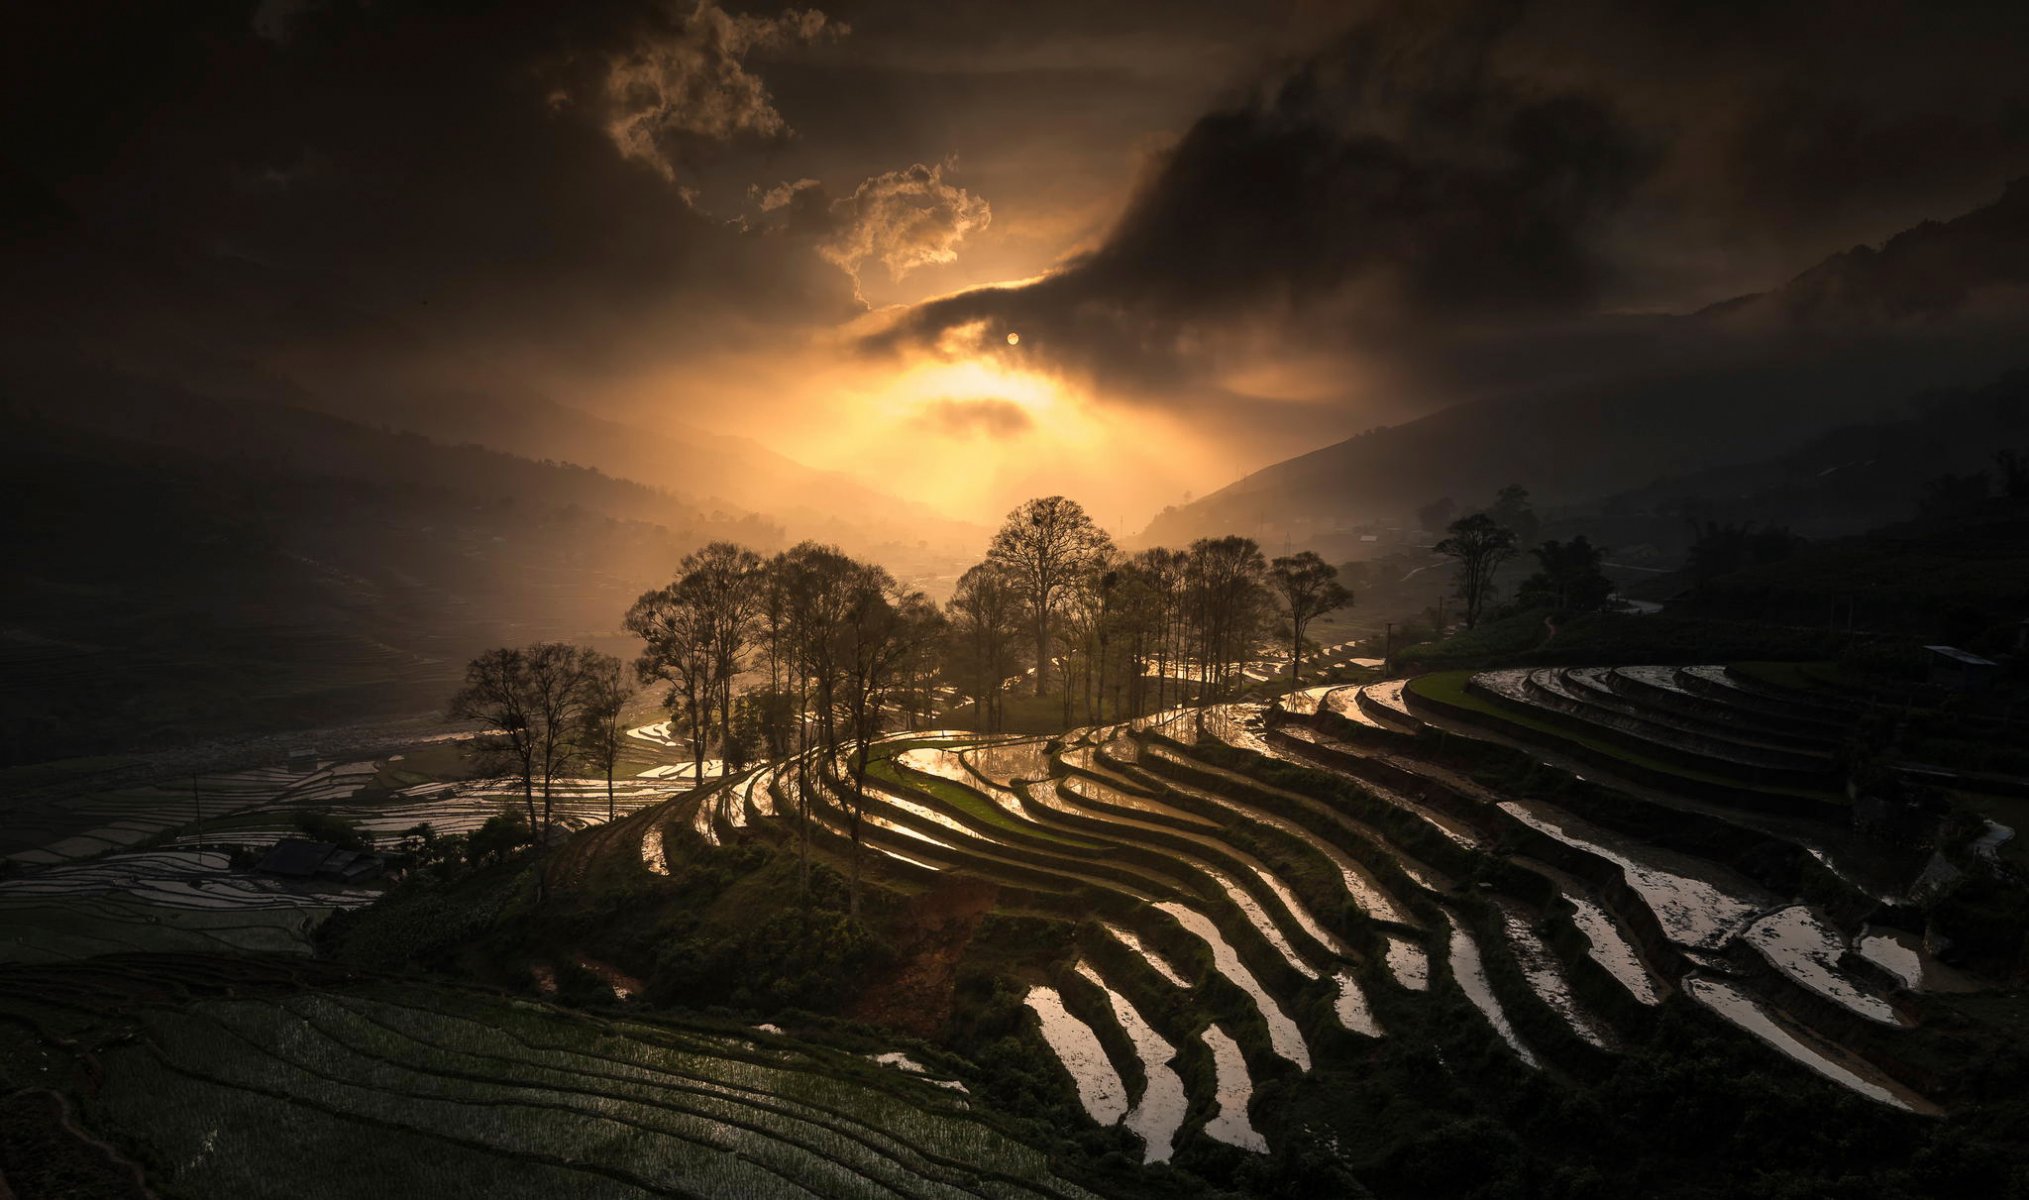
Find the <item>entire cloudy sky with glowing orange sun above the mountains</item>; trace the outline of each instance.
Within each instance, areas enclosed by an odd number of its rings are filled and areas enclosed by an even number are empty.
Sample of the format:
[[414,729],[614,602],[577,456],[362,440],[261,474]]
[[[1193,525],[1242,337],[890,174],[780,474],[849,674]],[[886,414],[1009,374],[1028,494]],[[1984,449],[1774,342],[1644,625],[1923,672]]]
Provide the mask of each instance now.
[[1063,491],[1138,526],[1583,376],[1603,331],[2029,173],[2019,2],[193,0],[26,24],[0,122],[34,337],[327,396],[540,394],[982,522]]

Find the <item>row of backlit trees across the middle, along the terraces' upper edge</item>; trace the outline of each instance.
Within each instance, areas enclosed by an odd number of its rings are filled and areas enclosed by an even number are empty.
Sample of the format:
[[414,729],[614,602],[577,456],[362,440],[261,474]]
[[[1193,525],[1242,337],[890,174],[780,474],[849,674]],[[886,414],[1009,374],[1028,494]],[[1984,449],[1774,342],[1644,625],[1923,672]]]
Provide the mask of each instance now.
[[[1112,721],[1238,690],[1268,646],[1301,684],[1309,625],[1351,603],[1315,552],[1268,560],[1252,538],[1124,554],[1086,510],[1049,495],[1023,504],[941,607],[887,569],[803,542],[773,556],[712,542],[643,593],[623,625],[641,640],[633,682],[657,690],[690,749],[692,780],[755,761],[797,763],[808,879],[810,770],[844,802],[860,843],[870,747],[943,711],[1002,729],[1027,692],[1063,725]],[[521,784],[538,849],[552,790],[625,747],[633,684],[617,658],[564,644],[499,648],[467,668],[457,719]],[[538,808],[540,798],[540,808]],[[852,863],[858,897],[858,855]]]

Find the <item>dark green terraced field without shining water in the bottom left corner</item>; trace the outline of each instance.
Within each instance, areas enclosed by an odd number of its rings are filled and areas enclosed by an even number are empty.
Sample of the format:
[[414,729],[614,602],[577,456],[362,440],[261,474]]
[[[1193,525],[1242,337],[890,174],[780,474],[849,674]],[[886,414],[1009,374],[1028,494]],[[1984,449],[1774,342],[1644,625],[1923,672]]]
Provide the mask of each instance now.
[[1092,1196],[962,1088],[730,1025],[211,958],[0,969],[0,1078],[168,1196]]

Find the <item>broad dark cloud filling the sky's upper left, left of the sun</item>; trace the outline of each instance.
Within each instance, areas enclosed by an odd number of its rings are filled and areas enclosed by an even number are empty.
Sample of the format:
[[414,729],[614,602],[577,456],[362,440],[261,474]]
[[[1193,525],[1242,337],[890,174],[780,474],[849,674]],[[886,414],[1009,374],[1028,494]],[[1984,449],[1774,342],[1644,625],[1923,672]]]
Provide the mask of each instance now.
[[[122,309],[181,311],[177,339],[227,355],[317,343],[367,370],[428,345],[477,378],[584,378],[854,311],[808,248],[692,211],[666,179],[696,142],[777,130],[753,55],[820,14],[333,0],[286,8],[286,43],[274,20],[79,6],[10,55],[10,179],[67,221],[32,248],[49,323],[110,341]],[[639,118],[633,158],[615,112]],[[114,272],[132,286],[79,278]]]

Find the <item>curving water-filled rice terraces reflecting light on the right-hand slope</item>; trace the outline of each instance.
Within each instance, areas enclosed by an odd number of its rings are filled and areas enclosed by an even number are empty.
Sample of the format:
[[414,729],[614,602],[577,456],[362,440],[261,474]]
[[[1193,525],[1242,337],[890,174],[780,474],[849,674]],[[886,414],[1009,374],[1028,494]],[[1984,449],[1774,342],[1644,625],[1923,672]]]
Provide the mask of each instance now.
[[[1568,717],[1556,705],[1609,674],[1526,694]],[[1631,696],[1662,684],[1629,674]],[[1781,737],[1727,739],[1715,715],[1641,721],[1641,737],[1680,733],[1733,768],[1816,770],[1808,737],[1796,739],[1802,757],[1777,761]],[[1905,1113],[1942,1111],[1932,1068],[1897,1042],[1919,1021],[1913,981],[1936,964],[1919,938],[1873,924],[1913,910],[1832,871],[1804,902],[1686,849],[1694,837],[1631,832],[1684,822],[1712,841],[1725,826],[1733,843],[1820,863],[1834,855],[1816,847],[1842,839],[1836,824],[1816,843],[1783,841],[1771,824],[1804,818],[1769,816],[1751,784],[1739,824],[1708,792],[1654,786],[1615,792],[1643,820],[1603,824],[1593,804],[1503,796],[1435,761],[1416,733],[1430,723],[1477,733],[1384,680],[1057,741],[911,743],[877,772],[864,843],[891,887],[984,879],[1004,906],[1079,922],[1077,958],[1029,985],[1039,1052],[1057,1056],[1092,1121],[1142,1139],[1146,1161],[1193,1139],[1270,1151],[1288,1131],[1250,1107],[1266,1080],[1335,1070],[1359,1044],[1400,1036],[1390,1013],[1453,997],[1522,1070],[1597,1070],[1660,1005],[1690,1003],[1783,1070]],[[1682,765],[1686,780],[1700,770]],[[787,837],[785,814],[806,796],[789,776],[708,798],[696,832]],[[842,800],[808,778],[820,839],[844,855]],[[1410,1036],[1420,1021],[1408,1017]]]

